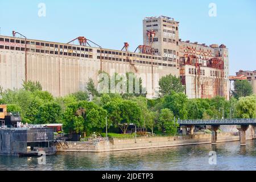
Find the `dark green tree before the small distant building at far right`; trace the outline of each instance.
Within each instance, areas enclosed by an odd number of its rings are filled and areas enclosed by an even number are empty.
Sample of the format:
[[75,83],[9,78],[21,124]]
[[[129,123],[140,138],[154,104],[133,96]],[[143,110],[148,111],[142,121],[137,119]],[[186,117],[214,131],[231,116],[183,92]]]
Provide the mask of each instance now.
[[233,96],[238,100],[240,97],[246,97],[253,94],[253,87],[247,80],[234,81]]

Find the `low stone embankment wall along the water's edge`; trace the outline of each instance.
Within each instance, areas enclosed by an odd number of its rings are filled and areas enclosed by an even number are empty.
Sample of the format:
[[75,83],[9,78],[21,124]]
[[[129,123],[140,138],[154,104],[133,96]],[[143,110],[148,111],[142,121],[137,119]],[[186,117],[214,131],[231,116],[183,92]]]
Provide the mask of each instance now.
[[[255,136],[247,134],[247,139]],[[219,133],[217,143],[239,141],[237,133]],[[91,140],[88,142],[67,142],[67,145],[58,148],[65,152],[109,152],[138,150],[145,148],[187,146],[212,143],[211,134],[195,134],[177,137],[137,137],[132,139]]]

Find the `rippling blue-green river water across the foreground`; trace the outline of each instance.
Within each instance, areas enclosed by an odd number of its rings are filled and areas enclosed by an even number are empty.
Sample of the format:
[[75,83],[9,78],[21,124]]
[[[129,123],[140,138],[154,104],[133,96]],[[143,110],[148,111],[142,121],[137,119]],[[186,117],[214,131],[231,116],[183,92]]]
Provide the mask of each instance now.
[[[256,170],[256,140],[104,153],[58,152],[36,157],[0,156],[0,170]],[[216,152],[209,156],[210,151]],[[209,163],[210,159],[210,163]],[[216,159],[216,160],[215,160]]]

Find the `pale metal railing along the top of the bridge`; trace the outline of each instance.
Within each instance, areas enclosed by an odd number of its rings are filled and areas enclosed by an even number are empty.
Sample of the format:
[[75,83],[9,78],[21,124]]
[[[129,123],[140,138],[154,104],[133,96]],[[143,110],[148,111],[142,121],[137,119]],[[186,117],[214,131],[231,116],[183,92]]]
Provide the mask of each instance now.
[[178,123],[180,125],[250,125],[256,124],[256,119],[179,119]]

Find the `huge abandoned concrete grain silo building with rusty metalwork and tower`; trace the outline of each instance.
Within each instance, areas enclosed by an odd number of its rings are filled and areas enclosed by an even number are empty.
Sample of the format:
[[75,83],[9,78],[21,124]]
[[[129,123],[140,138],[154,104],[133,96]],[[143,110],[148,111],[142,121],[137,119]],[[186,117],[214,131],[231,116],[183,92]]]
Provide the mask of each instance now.
[[189,98],[229,99],[228,49],[224,46],[182,42],[179,22],[166,16],[143,20],[143,45],[137,52],[46,42],[0,35],[0,86],[22,87],[24,80],[39,81],[53,96],[86,89],[98,72],[142,77],[147,97],[158,96],[158,81],[165,75],[181,77]]

